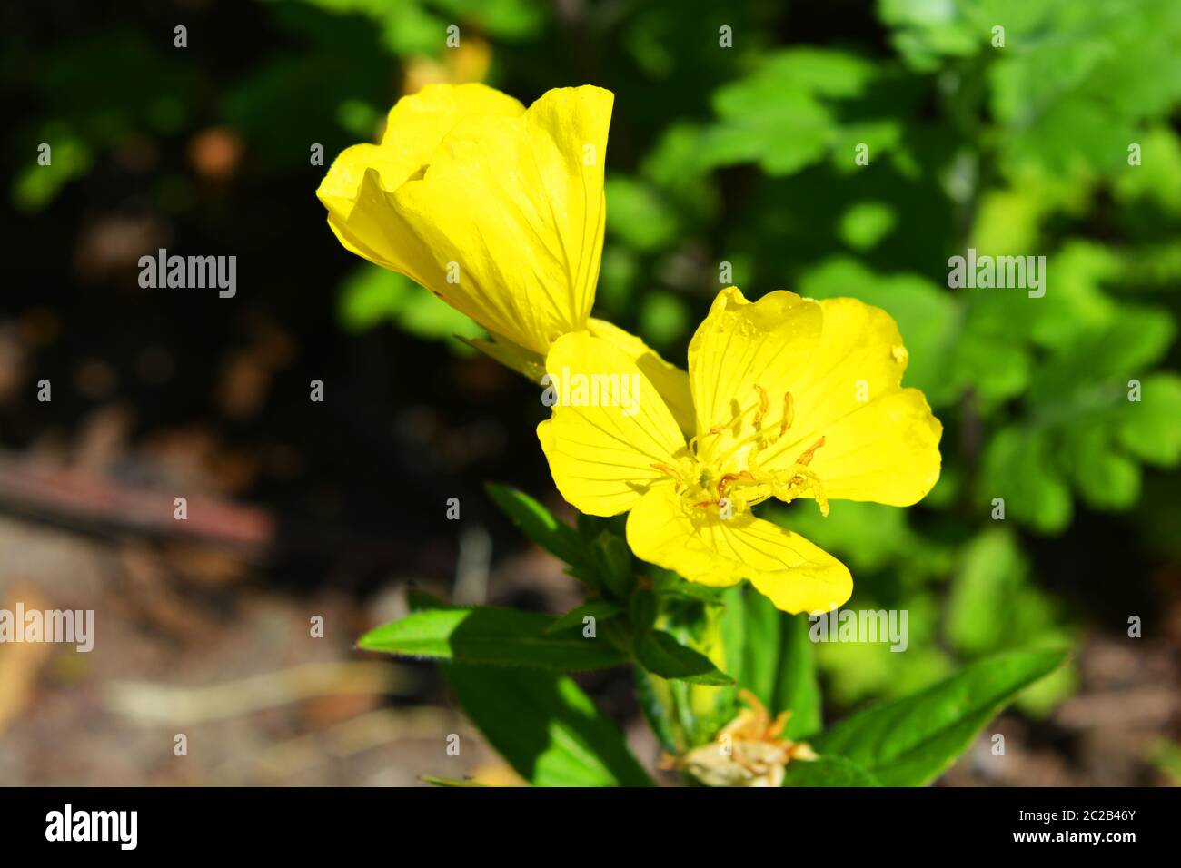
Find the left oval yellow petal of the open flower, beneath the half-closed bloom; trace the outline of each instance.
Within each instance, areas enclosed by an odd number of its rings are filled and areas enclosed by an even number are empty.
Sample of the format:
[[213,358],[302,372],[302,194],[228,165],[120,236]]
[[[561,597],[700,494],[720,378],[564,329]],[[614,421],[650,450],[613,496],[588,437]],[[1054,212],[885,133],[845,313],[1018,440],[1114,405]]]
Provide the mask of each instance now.
[[651,380],[622,351],[586,332],[560,338],[546,359],[553,417],[537,426],[557,490],[588,515],[631,509],[672,479],[685,438]]

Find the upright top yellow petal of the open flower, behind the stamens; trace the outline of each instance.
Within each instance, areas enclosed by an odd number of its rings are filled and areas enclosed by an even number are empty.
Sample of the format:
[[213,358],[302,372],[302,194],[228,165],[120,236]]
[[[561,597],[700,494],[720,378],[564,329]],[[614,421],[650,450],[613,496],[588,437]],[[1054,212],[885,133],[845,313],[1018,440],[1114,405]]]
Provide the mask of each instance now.
[[820,305],[795,293],[768,293],[755,304],[738,287],[718,293],[689,344],[703,462],[726,455],[753,433],[764,393],[763,422],[778,424],[783,396],[811,360],[821,324]]

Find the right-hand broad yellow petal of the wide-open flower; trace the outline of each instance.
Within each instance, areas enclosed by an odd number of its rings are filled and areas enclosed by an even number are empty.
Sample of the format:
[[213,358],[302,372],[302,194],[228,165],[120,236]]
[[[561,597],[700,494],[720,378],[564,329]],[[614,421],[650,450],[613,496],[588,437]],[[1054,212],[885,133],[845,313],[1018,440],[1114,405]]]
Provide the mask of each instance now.
[[900,386],[907,352],[898,326],[857,299],[820,307],[820,345],[788,384],[795,423],[759,462],[789,466],[823,437],[809,470],[828,498],[911,505],[939,479],[942,425],[922,392]]

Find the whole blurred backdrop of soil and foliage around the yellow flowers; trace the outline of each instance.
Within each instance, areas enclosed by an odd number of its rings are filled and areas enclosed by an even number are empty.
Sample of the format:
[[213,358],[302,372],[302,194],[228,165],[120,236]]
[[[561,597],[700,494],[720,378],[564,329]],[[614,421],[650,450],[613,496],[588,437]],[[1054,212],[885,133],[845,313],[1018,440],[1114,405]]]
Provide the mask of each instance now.
[[[0,607],[97,620],[91,654],[0,647],[0,783],[511,781],[430,666],[351,646],[411,586],[578,601],[483,492],[561,507],[543,407],[340,247],[311,159],[468,80],[614,91],[596,314],[670,360],[724,263],[899,321],[939,487],[769,513],[849,563],[850,606],[909,612],[905,654],[817,648],[830,716],[1069,642],[991,727],[1005,762],[985,739],[945,781],[1181,779],[1181,5],[45,0],[0,31]],[[1045,298],[948,289],[968,247],[1045,255]],[[158,248],[237,256],[236,296],[141,288]],[[586,684],[654,761],[627,673]]]

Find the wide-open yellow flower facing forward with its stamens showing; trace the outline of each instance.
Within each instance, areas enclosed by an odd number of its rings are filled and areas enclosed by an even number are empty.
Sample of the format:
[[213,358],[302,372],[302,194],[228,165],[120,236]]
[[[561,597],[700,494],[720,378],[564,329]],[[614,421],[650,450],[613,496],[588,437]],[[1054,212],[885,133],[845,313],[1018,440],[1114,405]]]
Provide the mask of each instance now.
[[[849,599],[849,570],[751,507],[811,497],[827,515],[830,500],[909,505],[926,495],[942,426],[920,391],[900,386],[906,363],[880,308],[788,292],[751,304],[730,287],[689,346],[689,443],[637,365],[586,333],[549,352],[556,404],[537,435],[574,507],[629,510],[641,560],[703,585],[749,579],[787,612],[827,612]],[[612,406],[618,396],[628,402]]]

